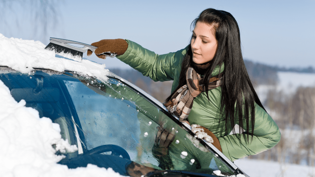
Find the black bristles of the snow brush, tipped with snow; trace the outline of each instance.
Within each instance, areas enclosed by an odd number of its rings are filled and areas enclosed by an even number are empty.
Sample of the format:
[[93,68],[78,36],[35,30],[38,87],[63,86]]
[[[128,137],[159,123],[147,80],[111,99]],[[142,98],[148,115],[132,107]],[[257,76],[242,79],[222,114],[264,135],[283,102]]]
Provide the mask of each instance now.
[[72,60],[81,61],[83,57],[83,52],[79,52],[77,50],[69,49],[67,47],[55,44],[55,43],[49,43],[45,49],[50,51],[55,51],[56,54],[59,54],[61,56],[64,56],[66,58],[70,58]]

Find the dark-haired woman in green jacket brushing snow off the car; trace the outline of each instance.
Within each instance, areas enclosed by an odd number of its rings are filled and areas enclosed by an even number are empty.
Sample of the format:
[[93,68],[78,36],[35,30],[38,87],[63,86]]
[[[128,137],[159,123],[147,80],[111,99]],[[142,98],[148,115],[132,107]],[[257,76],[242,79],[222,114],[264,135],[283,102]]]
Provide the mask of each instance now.
[[[154,81],[174,80],[164,105],[180,121],[193,124],[192,131],[198,136],[207,133],[208,138],[203,138],[230,160],[275,146],[280,131],[250,82],[234,17],[226,11],[206,9],[192,27],[190,45],[164,55],[123,39],[92,45],[99,47],[95,54],[100,58],[105,59],[100,55],[103,52],[115,52],[119,60]],[[229,134],[231,131],[234,134]]]

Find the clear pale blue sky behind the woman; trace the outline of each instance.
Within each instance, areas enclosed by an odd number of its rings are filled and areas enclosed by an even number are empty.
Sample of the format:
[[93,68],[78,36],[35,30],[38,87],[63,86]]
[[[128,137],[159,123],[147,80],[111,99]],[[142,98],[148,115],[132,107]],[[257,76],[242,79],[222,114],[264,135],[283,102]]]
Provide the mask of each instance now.
[[[54,29],[49,28],[46,40],[39,36],[40,24],[28,15],[34,10],[31,7],[14,6],[7,10],[4,17],[8,24],[0,21],[0,33],[6,37],[41,40],[44,44],[49,43],[49,37],[88,44],[123,38],[165,54],[186,47],[192,20],[202,10],[214,8],[230,12],[237,20],[244,59],[285,67],[315,67],[314,0],[60,2],[59,23]],[[35,33],[34,26],[39,29]],[[99,60],[93,55],[89,59],[109,68],[129,67],[116,58]]]

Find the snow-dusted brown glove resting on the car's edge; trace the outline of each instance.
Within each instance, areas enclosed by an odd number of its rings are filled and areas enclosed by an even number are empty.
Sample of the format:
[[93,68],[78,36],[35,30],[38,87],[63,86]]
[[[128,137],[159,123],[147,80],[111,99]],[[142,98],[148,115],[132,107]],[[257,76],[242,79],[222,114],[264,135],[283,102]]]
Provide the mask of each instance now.
[[209,129],[197,124],[192,124],[192,133],[196,134],[198,138],[204,139],[207,142],[213,144],[213,146],[222,152],[219,139]]

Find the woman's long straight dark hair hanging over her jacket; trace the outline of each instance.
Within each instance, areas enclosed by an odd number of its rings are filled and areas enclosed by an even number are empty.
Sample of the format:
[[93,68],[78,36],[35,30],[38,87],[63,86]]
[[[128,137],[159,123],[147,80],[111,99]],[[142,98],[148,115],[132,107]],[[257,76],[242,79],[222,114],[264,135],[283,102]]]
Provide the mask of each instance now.
[[[196,26],[198,21],[213,25],[215,38],[218,41],[213,64],[205,71],[204,80],[210,79],[216,66],[224,64],[220,114],[225,117],[225,131],[227,133],[228,124],[231,123],[232,131],[235,133],[234,125],[238,117],[239,131],[241,131],[241,127],[244,125],[243,121],[245,121],[247,142],[249,142],[249,134],[253,138],[251,132],[254,131],[255,124],[255,102],[264,110],[265,108],[254,90],[243,61],[238,24],[232,14],[216,9],[203,10],[198,18],[192,22],[191,29]],[[192,49],[189,45],[188,52],[182,61],[179,85],[171,95],[186,84],[186,71],[191,62]],[[208,82],[204,83],[204,89],[209,100],[208,85]],[[170,100],[171,95],[166,99],[167,101]],[[249,128],[251,128],[250,132]],[[245,138],[245,134],[243,136]]]

